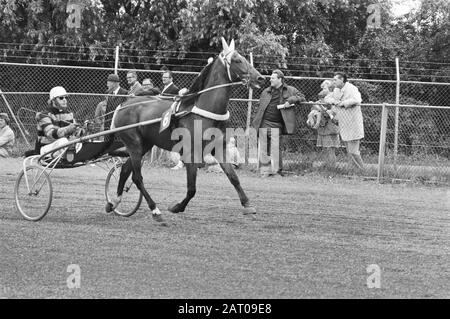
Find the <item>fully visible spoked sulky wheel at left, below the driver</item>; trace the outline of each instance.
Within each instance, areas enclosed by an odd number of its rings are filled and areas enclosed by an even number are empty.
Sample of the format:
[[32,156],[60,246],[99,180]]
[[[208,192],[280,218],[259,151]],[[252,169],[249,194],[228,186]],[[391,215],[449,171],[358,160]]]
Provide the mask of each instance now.
[[38,221],[49,211],[53,188],[50,176],[40,166],[28,166],[14,186],[16,207],[27,220]]

